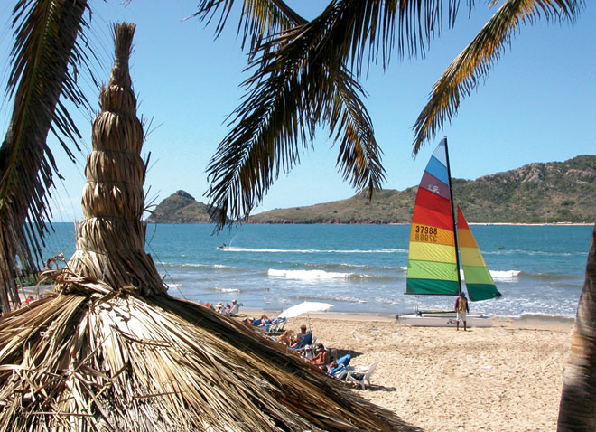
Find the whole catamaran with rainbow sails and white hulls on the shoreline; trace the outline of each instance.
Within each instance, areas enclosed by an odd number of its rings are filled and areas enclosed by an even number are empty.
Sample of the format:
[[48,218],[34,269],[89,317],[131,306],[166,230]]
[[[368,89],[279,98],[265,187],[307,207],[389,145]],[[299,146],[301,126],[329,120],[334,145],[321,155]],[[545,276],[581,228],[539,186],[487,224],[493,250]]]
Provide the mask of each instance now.
[[[426,165],[414,202],[405,294],[459,296],[462,292],[460,263],[470,301],[501,296],[490,276],[470,226],[452,200],[452,179],[447,137]],[[455,311],[416,311],[400,314],[399,322],[424,326],[455,326]],[[489,327],[489,315],[472,314],[471,327]]]

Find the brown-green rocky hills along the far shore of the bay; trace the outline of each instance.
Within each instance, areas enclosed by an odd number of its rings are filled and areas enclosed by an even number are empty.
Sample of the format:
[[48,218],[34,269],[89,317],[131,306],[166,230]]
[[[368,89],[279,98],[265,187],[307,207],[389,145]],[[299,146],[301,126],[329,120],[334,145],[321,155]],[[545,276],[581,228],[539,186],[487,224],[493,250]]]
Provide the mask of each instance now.
[[[455,204],[470,222],[593,222],[596,156],[533,163],[476,180],[452,179]],[[264,211],[248,223],[409,223],[418,187],[383,189],[371,202],[364,193],[347,200]],[[178,191],[161,202],[148,221],[207,223],[207,206]]]

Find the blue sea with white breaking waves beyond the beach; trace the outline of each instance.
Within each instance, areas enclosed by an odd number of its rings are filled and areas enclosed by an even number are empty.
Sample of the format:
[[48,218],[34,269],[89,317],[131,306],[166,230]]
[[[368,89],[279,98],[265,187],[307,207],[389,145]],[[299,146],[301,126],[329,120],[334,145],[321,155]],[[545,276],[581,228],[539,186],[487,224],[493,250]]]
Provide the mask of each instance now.
[[[74,227],[57,223],[44,258],[70,257]],[[490,315],[573,317],[592,226],[472,225],[503,294],[473,303]],[[397,314],[451,307],[450,296],[405,295],[409,225],[149,225],[146,251],[172,296],[281,311],[302,301],[332,311]],[[218,246],[228,247],[220,250]]]

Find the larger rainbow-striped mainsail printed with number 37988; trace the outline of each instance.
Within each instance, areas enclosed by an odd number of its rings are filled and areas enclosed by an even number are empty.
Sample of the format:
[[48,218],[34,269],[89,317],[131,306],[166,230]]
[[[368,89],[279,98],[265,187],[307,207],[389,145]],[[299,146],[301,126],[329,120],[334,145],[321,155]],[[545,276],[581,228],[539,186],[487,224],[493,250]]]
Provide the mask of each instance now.
[[458,268],[447,139],[443,138],[416,194],[405,294],[457,296],[461,291]]

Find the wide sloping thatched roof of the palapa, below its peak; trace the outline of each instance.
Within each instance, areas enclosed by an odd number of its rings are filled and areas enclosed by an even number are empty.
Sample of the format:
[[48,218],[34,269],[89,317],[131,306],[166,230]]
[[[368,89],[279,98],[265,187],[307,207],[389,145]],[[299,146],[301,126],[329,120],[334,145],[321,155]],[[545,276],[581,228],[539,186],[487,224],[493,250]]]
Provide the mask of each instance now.
[[200,305],[68,281],[0,322],[0,430],[418,430]]

